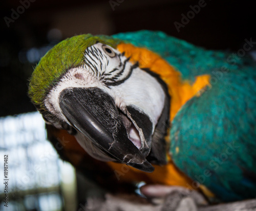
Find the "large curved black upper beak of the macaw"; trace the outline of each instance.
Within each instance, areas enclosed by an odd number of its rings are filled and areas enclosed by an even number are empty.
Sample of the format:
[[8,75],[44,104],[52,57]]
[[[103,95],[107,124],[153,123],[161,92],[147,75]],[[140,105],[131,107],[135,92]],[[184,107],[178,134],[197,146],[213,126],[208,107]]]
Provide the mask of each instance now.
[[144,172],[154,167],[131,142],[114,99],[99,88],[66,88],[59,106],[67,120],[116,160]]

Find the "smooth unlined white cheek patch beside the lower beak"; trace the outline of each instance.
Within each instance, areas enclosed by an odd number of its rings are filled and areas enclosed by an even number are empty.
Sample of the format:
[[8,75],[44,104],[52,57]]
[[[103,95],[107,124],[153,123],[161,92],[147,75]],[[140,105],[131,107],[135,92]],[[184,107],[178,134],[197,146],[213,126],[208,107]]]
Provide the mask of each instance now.
[[156,78],[137,67],[129,79],[112,87],[109,92],[111,96],[117,96],[116,105],[123,112],[126,106],[133,105],[147,114],[154,131],[165,101],[165,93]]

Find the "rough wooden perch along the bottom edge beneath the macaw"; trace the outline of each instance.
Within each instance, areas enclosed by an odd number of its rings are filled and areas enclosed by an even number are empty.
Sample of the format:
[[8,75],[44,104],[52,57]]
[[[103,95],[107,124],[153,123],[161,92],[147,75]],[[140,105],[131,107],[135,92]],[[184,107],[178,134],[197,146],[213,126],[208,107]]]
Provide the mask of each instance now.
[[256,199],[198,207],[191,197],[182,199],[178,206],[168,204],[166,200],[162,202],[153,204],[136,195],[106,194],[105,200],[89,198],[87,205],[78,211],[256,211]]

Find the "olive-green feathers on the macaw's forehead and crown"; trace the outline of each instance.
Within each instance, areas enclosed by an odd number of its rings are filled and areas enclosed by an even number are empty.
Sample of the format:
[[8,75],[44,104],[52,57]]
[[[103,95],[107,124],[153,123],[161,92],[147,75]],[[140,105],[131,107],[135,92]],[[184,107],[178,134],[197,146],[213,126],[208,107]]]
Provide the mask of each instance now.
[[29,97],[37,108],[46,109],[44,100],[49,90],[68,69],[84,64],[84,51],[96,42],[116,48],[120,40],[104,35],[78,35],[59,42],[40,59],[29,84]]

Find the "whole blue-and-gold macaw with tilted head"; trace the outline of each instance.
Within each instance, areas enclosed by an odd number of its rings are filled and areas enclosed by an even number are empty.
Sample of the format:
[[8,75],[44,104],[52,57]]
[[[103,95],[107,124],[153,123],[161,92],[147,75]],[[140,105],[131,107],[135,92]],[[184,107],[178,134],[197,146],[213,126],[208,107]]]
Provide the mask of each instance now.
[[256,196],[256,65],[240,55],[163,32],[78,35],[41,58],[29,96],[61,158],[102,184],[248,199]]

